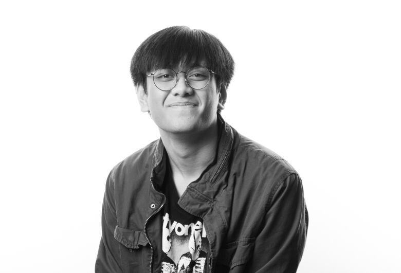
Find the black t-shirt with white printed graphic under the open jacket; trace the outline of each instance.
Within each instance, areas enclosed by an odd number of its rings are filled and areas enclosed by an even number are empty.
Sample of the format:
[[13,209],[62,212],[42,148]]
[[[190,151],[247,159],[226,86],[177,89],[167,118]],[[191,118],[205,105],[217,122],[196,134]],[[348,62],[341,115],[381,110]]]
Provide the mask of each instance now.
[[203,220],[181,209],[170,166],[163,183],[166,204],[162,219],[162,273],[204,272],[209,241]]

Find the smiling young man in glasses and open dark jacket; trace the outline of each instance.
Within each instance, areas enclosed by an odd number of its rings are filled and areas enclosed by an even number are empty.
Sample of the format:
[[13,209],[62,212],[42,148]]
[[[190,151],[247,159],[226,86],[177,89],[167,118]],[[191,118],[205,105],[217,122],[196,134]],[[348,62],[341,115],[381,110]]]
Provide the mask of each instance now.
[[131,73],[160,139],[107,178],[96,272],[295,272],[307,231],[301,179],[220,115],[234,62],[203,30],[163,29]]

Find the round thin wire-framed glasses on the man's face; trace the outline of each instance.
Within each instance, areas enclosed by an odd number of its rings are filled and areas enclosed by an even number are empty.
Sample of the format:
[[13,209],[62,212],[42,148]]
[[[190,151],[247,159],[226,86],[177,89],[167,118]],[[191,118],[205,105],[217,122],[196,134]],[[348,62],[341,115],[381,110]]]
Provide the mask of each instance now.
[[192,89],[205,88],[210,82],[211,74],[215,74],[212,70],[202,66],[190,68],[187,72],[175,72],[171,68],[161,68],[145,76],[145,78],[153,76],[153,82],[157,88],[162,91],[170,91],[177,85],[179,73],[185,74],[185,81]]

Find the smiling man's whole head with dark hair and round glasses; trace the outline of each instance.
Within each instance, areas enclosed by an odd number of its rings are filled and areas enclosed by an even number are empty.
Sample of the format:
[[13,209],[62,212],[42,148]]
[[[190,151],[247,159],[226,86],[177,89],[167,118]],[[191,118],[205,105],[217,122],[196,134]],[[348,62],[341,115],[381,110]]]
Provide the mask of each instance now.
[[[207,85],[203,88],[186,73],[194,67],[209,71],[204,75],[210,81],[205,81]],[[159,77],[163,81],[172,79],[169,88],[163,88],[154,79],[153,74],[162,68],[173,70]],[[217,38],[204,30],[185,26],[154,33],[138,47],[131,62],[141,110],[149,111],[160,129],[171,132],[206,128],[215,119],[217,110],[224,108],[233,71],[231,54]],[[198,80],[199,75],[192,76]]]

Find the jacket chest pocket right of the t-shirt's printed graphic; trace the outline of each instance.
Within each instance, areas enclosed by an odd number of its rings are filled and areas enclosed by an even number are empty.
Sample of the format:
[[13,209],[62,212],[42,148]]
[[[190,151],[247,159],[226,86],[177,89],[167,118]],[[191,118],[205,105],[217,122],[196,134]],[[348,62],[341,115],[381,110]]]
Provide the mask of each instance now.
[[252,258],[254,246],[255,238],[244,238],[229,243],[220,249],[216,262],[230,269],[246,264]]

